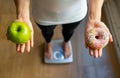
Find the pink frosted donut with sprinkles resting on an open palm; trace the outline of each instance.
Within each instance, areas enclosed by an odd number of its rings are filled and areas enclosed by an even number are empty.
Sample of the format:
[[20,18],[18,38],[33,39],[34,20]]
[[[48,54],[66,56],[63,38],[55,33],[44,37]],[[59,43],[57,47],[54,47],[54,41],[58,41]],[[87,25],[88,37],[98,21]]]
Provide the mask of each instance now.
[[104,28],[94,28],[88,32],[87,44],[93,49],[100,49],[105,47],[109,42],[109,35]]

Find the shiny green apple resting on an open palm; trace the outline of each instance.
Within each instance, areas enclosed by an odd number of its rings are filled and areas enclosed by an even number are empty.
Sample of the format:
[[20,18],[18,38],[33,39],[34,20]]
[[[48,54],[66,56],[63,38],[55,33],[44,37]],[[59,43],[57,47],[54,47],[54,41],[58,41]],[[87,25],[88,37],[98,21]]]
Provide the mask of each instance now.
[[24,22],[12,22],[8,26],[7,37],[16,44],[23,44],[30,40],[31,30]]

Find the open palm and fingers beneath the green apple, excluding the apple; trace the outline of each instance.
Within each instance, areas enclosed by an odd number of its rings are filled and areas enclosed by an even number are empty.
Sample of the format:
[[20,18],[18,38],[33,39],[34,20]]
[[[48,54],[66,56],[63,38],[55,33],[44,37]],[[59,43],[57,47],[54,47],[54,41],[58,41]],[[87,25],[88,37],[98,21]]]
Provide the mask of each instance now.
[[23,20],[23,19],[17,19],[15,21],[21,21],[21,22],[25,22],[28,24],[28,26],[31,29],[31,38],[28,42],[24,43],[24,44],[16,44],[16,51],[20,52],[20,53],[24,53],[24,51],[26,52],[30,52],[30,48],[33,47],[34,45],[34,41],[33,41],[33,36],[34,36],[34,30],[32,27],[32,23],[29,19],[27,20]]

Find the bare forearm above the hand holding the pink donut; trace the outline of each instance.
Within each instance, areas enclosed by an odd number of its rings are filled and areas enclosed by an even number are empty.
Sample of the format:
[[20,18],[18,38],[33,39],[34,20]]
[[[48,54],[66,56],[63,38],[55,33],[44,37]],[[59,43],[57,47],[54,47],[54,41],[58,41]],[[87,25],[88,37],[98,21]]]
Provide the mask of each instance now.
[[88,19],[101,20],[101,11],[104,0],[89,0]]

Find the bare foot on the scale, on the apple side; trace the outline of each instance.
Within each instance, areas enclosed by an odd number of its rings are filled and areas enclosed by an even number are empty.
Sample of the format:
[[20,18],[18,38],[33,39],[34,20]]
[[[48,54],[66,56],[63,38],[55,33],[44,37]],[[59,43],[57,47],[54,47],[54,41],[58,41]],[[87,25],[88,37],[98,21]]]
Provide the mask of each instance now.
[[45,45],[45,57],[48,59],[52,59],[52,43],[47,43]]

